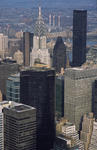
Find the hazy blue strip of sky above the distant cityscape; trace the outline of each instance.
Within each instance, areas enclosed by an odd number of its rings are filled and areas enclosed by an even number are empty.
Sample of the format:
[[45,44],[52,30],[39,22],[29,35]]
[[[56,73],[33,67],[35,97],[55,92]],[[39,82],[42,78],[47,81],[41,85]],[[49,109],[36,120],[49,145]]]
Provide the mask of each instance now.
[[0,0],[0,7],[55,7],[79,8],[96,6],[97,0]]

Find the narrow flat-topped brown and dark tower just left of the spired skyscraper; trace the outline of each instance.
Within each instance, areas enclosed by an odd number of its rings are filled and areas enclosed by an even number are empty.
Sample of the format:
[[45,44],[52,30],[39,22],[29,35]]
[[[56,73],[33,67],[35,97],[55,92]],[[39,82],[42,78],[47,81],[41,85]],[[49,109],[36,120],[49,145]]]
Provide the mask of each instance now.
[[33,33],[23,33],[24,66],[30,65],[30,51],[33,48]]

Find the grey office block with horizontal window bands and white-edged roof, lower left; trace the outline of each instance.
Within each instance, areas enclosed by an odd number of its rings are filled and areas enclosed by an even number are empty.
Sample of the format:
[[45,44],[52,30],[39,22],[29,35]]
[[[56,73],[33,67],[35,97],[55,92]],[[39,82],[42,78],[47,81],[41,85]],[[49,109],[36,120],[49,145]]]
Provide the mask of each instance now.
[[4,150],[36,150],[36,109],[11,102],[3,113]]

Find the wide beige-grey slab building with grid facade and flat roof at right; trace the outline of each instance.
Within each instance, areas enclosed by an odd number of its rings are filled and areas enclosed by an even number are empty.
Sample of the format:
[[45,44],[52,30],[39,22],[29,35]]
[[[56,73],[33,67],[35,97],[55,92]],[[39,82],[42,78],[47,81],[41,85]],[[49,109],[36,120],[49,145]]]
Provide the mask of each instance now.
[[[97,68],[71,68],[65,70],[64,116],[77,130],[84,114],[92,112],[93,82]],[[96,101],[95,101],[96,103]]]

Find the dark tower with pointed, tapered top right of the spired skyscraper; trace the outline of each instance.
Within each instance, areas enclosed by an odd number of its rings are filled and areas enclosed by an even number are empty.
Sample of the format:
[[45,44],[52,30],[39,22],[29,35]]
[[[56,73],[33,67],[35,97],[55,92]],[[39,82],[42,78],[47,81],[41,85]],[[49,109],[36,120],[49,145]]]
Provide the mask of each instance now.
[[61,37],[57,38],[53,50],[53,67],[56,72],[61,72],[61,68],[66,68],[66,46]]

